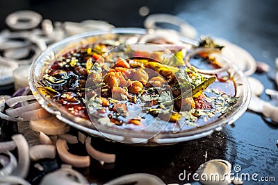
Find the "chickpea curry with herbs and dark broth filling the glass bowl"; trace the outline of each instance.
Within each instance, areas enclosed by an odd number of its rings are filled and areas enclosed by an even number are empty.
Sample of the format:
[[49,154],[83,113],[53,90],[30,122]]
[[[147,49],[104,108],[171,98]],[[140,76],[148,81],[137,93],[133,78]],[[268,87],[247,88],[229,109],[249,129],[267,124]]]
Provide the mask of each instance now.
[[[73,116],[128,129],[156,122],[201,126],[236,103],[227,71],[202,75],[183,65],[186,52],[179,47],[142,51],[121,46],[126,39],[98,40],[59,54],[44,72],[41,90]],[[189,60],[196,61],[221,67],[208,53]]]

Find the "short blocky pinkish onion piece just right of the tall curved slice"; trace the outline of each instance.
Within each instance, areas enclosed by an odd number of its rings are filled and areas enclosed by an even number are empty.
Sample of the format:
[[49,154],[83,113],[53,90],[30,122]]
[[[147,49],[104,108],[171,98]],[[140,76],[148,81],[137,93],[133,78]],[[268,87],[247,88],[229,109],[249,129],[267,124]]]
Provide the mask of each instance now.
[[30,159],[32,161],[38,161],[39,159],[49,158],[54,159],[56,157],[56,147],[52,145],[38,145],[30,148]]

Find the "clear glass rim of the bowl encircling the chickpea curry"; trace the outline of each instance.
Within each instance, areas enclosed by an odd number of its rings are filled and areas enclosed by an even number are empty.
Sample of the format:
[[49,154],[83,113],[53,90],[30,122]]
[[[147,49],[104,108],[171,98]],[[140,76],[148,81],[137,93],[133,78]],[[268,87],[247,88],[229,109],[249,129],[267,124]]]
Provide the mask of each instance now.
[[[180,130],[177,133],[162,131],[155,136],[154,133],[142,132],[140,130],[123,130],[120,127],[108,127],[101,125],[96,128],[90,120],[73,116],[70,112],[67,112],[62,105],[58,105],[54,102],[54,100],[47,98],[38,90],[40,87],[39,82],[42,80],[43,73],[50,65],[50,63],[46,61],[49,61],[49,58],[53,58],[55,53],[63,52],[65,49],[76,46],[90,37],[101,37],[101,35],[107,34],[142,35],[146,32],[147,31],[145,29],[140,28],[114,28],[113,30],[101,30],[81,35],[74,35],[49,46],[49,48],[41,53],[40,56],[32,63],[29,71],[29,86],[33,95],[42,107],[44,107],[44,109],[51,114],[54,114],[60,121],[63,121],[72,127],[88,132],[88,134],[92,134],[93,136],[99,136],[111,141],[120,141],[123,143],[140,144],[145,146],[179,143],[181,141],[188,141],[208,136],[214,131],[222,130],[225,125],[234,123],[234,121],[236,121],[246,111],[251,98],[250,86],[247,79],[243,75],[243,72],[241,72],[234,64],[230,64],[227,71],[229,71],[229,73],[231,73],[234,77],[236,82],[236,96],[239,98],[238,102],[233,105],[230,112],[224,113],[217,120],[199,127],[187,126],[185,129]],[[193,45],[198,43],[193,39],[185,37],[180,37],[180,40]]]

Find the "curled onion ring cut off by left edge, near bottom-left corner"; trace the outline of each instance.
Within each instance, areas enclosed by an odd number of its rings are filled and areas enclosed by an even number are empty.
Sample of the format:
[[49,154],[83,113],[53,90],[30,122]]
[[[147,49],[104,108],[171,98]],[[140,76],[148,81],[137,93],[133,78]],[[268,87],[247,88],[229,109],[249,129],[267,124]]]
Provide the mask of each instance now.
[[[13,173],[13,170],[15,169],[15,167],[17,167],[17,159],[15,159],[15,156],[11,152],[3,152],[3,153],[8,155],[10,157],[10,159],[7,159],[7,161],[6,161],[5,159],[3,159],[3,157],[6,157],[6,156],[0,155],[0,164],[3,166],[0,169],[0,177],[10,175],[11,173]],[[6,162],[4,163],[3,161],[6,161]],[[8,164],[6,164],[6,163],[8,163]]]

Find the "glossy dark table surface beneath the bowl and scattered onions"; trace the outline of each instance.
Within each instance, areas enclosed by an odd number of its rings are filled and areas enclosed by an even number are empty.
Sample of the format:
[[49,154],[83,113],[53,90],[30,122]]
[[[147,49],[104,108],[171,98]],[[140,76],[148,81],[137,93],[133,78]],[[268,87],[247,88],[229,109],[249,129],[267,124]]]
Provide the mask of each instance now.
[[[150,13],[170,13],[193,25],[200,35],[213,35],[228,39],[249,51],[257,61],[275,68],[278,57],[278,1],[1,1],[0,28],[6,28],[4,18],[15,10],[29,9],[40,12],[53,21],[82,21],[102,19],[117,27],[140,27],[145,17],[138,10],[148,6]],[[254,74],[265,88],[277,89],[266,74]],[[11,94],[12,90],[1,91]],[[263,94],[263,99],[268,96]],[[278,112],[277,112],[278,114]],[[2,123],[3,125],[3,123]],[[234,125],[221,132],[195,141],[174,146],[144,148],[124,146],[95,139],[95,146],[115,152],[114,166],[79,169],[90,182],[103,184],[110,179],[129,173],[151,173],[166,184],[185,184],[179,174],[194,173],[200,164],[210,159],[226,159],[240,166],[238,174],[258,173],[261,177],[275,177],[276,182],[246,181],[245,184],[278,184],[278,127],[266,123],[261,115],[246,112]],[[82,146],[81,146],[82,147]],[[234,172],[234,170],[233,170]],[[29,179],[33,176],[29,175]],[[199,182],[192,182],[199,184]]]

